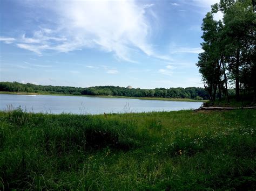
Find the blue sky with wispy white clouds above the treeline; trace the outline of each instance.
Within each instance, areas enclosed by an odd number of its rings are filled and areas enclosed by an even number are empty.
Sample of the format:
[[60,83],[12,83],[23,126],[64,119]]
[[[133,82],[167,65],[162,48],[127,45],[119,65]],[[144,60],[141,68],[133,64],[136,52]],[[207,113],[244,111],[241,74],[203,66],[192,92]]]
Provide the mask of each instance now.
[[203,87],[200,27],[214,3],[1,0],[0,81]]

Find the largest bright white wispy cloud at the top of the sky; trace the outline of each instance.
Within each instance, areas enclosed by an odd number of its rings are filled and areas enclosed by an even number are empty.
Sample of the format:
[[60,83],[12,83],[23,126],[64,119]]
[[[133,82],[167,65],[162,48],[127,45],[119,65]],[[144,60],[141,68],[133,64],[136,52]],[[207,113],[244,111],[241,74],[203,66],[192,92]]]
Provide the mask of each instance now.
[[[31,2],[41,8],[40,2]],[[171,60],[157,54],[150,43],[152,26],[146,11],[154,4],[135,1],[51,1],[43,5],[50,12],[49,26],[39,26],[32,36],[23,34],[17,46],[41,55],[46,50],[70,52],[83,48],[100,48],[118,59],[132,59],[138,49],[148,56]],[[151,13],[152,9],[149,9]],[[152,16],[153,19],[156,19]],[[53,29],[55,26],[55,29]],[[45,26],[45,25],[44,25]]]

